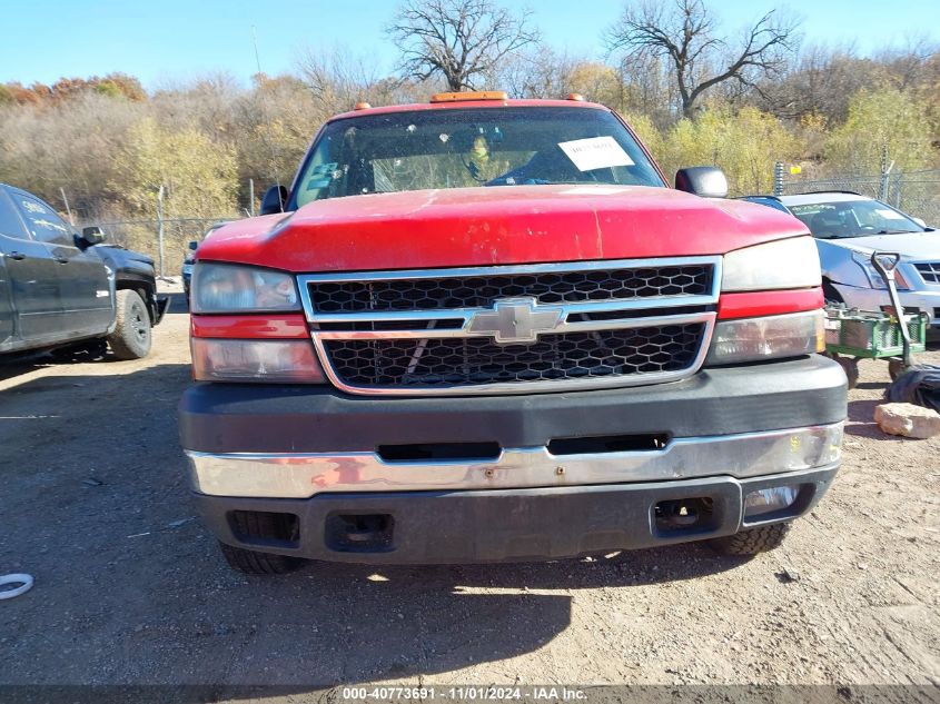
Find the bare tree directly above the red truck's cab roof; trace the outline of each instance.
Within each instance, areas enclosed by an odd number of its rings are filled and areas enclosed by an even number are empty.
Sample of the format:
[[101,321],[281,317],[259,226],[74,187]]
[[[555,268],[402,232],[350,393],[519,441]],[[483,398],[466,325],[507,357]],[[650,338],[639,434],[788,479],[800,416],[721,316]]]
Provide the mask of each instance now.
[[492,0],[406,0],[386,32],[402,51],[402,72],[441,75],[451,90],[474,89],[499,62],[538,41],[531,12],[518,17]]

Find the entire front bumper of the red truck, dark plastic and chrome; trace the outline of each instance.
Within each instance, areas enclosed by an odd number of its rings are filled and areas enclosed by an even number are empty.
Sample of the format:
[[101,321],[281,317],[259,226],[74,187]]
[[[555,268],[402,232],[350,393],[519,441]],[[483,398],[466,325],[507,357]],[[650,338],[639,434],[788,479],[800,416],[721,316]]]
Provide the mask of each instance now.
[[[219,539],[406,564],[555,558],[731,535],[755,525],[743,517],[749,492],[799,485],[792,506],[761,518],[789,520],[832,480],[844,418],[844,374],[815,355],[603,391],[364,398],[327,387],[197,384],[180,403],[194,494]],[[578,449],[600,437],[656,439],[643,449]],[[552,452],[560,440],[567,449]],[[496,449],[400,458],[447,444]],[[656,507],[675,500],[708,510],[694,525],[664,529]],[[277,541],[239,535],[231,518],[239,510],[288,514],[296,532]]]

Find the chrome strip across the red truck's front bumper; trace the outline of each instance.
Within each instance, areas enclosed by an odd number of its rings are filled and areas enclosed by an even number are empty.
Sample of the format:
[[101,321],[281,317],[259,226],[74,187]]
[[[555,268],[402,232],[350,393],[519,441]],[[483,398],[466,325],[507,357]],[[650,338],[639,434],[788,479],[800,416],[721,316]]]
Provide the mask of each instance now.
[[662,449],[554,456],[504,449],[493,460],[385,462],[375,453],[208,454],[187,450],[192,488],[209,496],[309,498],[321,493],[508,489],[748,478],[838,466],[842,423],[674,438]]

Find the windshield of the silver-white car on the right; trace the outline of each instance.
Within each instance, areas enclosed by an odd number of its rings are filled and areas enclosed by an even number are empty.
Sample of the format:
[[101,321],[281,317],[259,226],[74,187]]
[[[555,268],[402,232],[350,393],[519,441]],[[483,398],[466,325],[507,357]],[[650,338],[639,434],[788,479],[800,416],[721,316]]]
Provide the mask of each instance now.
[[924,231],[903,212],[878,200],[841,200],[789,207],[810,228],[813,237],[820,239]]

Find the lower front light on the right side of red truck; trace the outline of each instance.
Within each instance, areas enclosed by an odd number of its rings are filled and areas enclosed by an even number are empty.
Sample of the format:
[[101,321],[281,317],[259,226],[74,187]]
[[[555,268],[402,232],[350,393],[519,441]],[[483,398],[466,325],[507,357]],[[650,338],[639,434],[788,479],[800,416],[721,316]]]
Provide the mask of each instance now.
[[825,349],[823,311],[720,320],[712,335],[706,365],[742,364],[800,357]]

